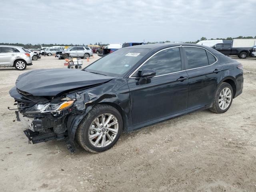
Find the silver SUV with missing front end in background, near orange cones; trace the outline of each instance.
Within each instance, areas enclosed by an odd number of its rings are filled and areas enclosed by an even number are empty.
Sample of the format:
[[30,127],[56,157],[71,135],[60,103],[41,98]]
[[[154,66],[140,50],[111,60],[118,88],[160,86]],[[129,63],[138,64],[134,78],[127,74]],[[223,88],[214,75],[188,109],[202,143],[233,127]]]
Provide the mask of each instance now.
[[68,57],[82,57],[89,58],[93,55],[92,50],[89,47],[70,47],[62,52],[64,58]]

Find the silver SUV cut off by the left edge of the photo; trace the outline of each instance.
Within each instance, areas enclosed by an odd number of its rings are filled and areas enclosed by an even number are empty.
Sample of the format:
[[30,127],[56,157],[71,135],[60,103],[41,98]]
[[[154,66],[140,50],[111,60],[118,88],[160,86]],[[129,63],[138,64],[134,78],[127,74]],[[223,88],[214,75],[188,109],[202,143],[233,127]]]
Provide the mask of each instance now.
[[19,46],[0,45],[0,67],[24,70],[27,65],[32,65],[32,59],[26,49]]

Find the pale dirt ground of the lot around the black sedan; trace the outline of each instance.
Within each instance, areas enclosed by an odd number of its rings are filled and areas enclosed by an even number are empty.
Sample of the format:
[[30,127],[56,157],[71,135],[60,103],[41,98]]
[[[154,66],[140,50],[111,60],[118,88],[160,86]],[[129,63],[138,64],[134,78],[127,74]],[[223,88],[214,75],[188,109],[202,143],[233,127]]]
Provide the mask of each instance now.
[[70,154],[63,141],[28,144],[7,109],[15,107],[8,91],[19,74],[64,68],[64,60],[42,56],[25,71],[0,68],[0,191],[255,192],[256,58],[234,58],[244,65],[244,90],[226,113],[194,112],[122,134],[100,154],[79,146]]

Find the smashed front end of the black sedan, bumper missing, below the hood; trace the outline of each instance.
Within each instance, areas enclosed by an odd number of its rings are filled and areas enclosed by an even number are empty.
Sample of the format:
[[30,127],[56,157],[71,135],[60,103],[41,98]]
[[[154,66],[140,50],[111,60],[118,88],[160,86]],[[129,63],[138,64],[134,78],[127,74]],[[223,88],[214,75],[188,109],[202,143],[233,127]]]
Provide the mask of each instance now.
[[68,137],[67,147],[75,152],[74,137],[76,128],[86,114],[86,108],[96,98],[84,91],[69,92],[52,98],[32,96],[16,87],[10,90],[17,106],[16,117],[27,127],[24,130],[29,142],[33,144]]

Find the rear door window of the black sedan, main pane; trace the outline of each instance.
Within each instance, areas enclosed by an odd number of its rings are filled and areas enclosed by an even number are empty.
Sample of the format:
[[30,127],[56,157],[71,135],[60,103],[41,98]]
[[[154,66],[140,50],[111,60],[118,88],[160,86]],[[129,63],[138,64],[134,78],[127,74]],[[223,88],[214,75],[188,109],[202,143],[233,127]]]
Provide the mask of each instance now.
[[208,58],[206,51],[202,48],[184,47],[188,59],[188,66],[186,69],[193,69],[203,66],[208,66]]

